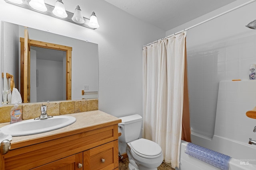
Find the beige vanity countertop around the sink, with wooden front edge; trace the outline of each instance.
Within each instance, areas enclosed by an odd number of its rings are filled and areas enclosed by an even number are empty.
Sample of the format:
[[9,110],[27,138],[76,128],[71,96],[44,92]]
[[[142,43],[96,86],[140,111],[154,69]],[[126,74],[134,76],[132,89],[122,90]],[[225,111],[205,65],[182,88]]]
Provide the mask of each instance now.
[[[101,127],[115,125],[122,122],[121,119],[100,110],[72,113],[66,115],[76,117],[76,122],[54,131],[39,133],[35,135],[12,137],[11,150],[34,145],[36,143],[50,141],[60,137],[66,137],[69,135],[91,131]],[[10,123],[0,123],[0,127],[8,124]]]

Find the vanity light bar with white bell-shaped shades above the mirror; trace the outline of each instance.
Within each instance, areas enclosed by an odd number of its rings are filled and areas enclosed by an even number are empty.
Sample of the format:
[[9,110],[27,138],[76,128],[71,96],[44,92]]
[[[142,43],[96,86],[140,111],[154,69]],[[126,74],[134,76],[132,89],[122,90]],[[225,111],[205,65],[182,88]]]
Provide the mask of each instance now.
[[[85,18],[82,16],[82,11],[80,7],[77,6],[75,9],[75,14],[73,14],[72,12],[68,12],[65,10],[62,0],[57,0],[55,7],[49,4],[45,4],[44,0],[30,0],[30,1],[29,0],[4,0],[4,1],[8,4],[19,6],[21,8],[25,8],[27,10],[38,12],[54,18],[58,18],[60,20],[65,20],[71,23],[75,23],[77,25],[87,27],[90,29],[97,29],[98,27],[100,27],[100,25],[98,24],[98,19],[94,12],[92,12],[90,19]],[[64,9],[62,10],[62,12],[60,12],[61,10],[59,10],[61,6]],[[60,13],[62,13],[62,15],[60,15]]]

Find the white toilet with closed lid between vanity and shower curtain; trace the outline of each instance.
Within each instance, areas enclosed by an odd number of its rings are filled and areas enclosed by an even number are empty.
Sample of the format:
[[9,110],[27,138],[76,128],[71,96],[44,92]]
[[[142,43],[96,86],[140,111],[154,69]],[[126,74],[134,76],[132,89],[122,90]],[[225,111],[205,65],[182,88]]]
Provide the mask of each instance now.
[[129,170],[157,170],[162,164],[163,154],[161,147],[148,139],[139,139],[142,117],[138,114],[119,117],[119,142],[126,143],[126,154],[129,159]]

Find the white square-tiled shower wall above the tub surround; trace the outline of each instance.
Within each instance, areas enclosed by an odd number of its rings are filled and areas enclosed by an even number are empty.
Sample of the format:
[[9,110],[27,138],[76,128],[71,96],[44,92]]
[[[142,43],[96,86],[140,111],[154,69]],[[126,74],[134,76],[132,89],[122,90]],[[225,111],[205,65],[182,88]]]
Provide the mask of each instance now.
[[256,35],[188,48],[187,54],[192,133],[212,137],[219,81],[249,79],[250,64],[256,64]]

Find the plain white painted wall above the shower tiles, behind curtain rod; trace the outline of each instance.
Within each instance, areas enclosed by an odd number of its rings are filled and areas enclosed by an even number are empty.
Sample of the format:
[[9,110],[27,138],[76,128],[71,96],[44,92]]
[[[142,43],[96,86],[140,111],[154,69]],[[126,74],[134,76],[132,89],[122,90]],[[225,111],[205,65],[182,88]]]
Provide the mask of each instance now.
[[[248,2],[248,0],[236,0],[235,2],[219,8],[218,10],[196,18],[195,20],[184,23],[174,29],[166,31],[166,36],[212,18],[246,2]],[[239,8],[233,12],[188,30],[187,48],[193,48],[208,42],[216,42],[221,41],[222,39],[229,39],[233,36],[239,36],[239,34],[254,34],[255,31],[246,28],[245,25],[256,19],[256,14],[254,12],[255,5],[256,2],[253,2],[247,6]]]

